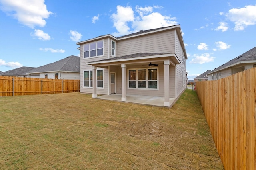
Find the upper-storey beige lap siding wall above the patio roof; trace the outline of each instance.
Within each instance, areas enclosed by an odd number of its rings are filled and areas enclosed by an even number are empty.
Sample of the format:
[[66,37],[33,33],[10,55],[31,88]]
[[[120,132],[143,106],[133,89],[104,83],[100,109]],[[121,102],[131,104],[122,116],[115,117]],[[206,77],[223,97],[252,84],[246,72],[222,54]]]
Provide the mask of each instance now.
[[118,41],[116,56],[136,53],[174,53],[174,31]]

